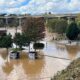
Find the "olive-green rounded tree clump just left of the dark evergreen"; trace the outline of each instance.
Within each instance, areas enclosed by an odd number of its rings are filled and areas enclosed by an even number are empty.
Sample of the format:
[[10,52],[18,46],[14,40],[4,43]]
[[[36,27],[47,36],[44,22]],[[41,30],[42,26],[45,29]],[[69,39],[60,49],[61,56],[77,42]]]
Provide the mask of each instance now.
[[48,20],[48,29],[50,32],[52,33],[59,33],[59,34],[63,34],[66,31],[67,28],[67,21],[63,20],[63,19],[55,19],[55,20]]

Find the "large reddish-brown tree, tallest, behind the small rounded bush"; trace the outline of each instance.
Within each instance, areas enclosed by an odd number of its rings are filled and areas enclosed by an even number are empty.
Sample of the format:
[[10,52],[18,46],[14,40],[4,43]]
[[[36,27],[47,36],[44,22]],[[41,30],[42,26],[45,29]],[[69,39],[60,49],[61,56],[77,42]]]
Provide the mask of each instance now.
[[22,31],[26,34],[29,44],[42,40],[45,37],[44,18],[29,17],[24,19]]

